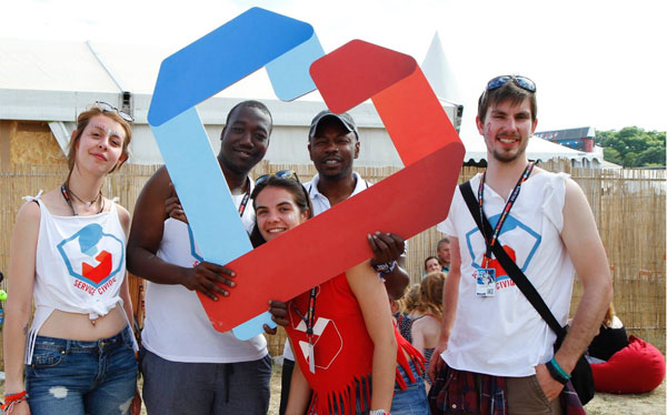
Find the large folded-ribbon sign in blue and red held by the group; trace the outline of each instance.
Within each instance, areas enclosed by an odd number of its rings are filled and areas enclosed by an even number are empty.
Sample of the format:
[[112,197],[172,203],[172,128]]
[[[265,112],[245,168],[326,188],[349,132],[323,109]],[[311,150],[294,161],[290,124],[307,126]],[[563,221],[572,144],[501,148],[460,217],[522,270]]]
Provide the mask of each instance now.
[[[196,105],[261,68],[281,100],[317,89],[340,113],[370,99],[405,169],[252,250]],[[310,24],[260,8],[162,61],[148,122],[201,256],[238,275],[225,301],[199,297],[213,327],[239,338],[273,324],[269,300],[288,301],[371,257],[367,234],[408,239],[441,222],[465,154],[415,59],[361,40],[325,54]]]

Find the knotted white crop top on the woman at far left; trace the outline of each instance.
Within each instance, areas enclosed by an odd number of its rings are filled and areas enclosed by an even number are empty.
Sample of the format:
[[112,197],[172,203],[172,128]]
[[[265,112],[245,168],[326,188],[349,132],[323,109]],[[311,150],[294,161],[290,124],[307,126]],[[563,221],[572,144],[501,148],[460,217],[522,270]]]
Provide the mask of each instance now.
[[40,208],[33,290],[37,308],[26,345],[26,363],[30,364],[34,338],[53,310],[94,320],[119,303],[122,306],[126,234],[116,203],[109,212],[90,216],[57,216],[39,195],[26,199]]

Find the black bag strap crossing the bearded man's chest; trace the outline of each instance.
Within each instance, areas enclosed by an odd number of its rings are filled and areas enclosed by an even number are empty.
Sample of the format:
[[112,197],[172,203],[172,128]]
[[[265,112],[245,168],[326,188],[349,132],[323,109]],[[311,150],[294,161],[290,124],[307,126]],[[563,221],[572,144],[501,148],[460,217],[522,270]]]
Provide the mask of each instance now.
[[[477,223],[477,227],[479,227],[480,230],[484,230],[485,233],[488,232],[487,234],[491,234],[491,232],[492,232],[491,224],[489,223],[488,219],[486,217],[486,214],[484,214],[484,212],[480,211],[479,203],[477,202],[477,199],[475,198],[475,193],[472,193],[472,188],[470,186],[470,182],[467,181],[465,183],[459,184],[459,190],[461,191],[461,195],[464,196],[464,200],[466,201],[466,204],[468,205],[468,210],[470,211],[470,214],[472,215],[472,217],[475,219],[475,222]],[[481,215],[481,217],[479,217],[480,215]],[[482,227],[482,225],[484,225],[484,227]],[[507,274],[514,281],[514,283],[519,287],[519,290],[521,290],[521,293],[524,293],[526,298],[528,298],[528,301],[530,302],[530,304],[532,304],[535,310],[537,310],[539,315],[541,315],[541,317],[545,320],[545,322],[547,322],[549,327],[551,327],[551,330],[556,333],[559,341],[563,341],[563,338],[565,337],[565,334],[566,334],[565,328],[563,326],[560,326],[560,324],[558,323],[558,321],[556,320],[556,317],[554,316],[554,314],[551,313],[551,311],[549,310],[549,307],[547,306],[547,304],[545,303],[542,297],[539,295],[539,293],[537,292],[535,286],[532,286],[530,281],[528,281],[528,277],[526,277],[524,272],[509,257],[509,255],[507,255],[507,252],[505,252],[501,244],[499,244],[499,243],[494,244],[492,251],[494,251],[494,254],[496,255],[496,257],[498,259],[498,262],[505,270],[505,272],[507,272]]]

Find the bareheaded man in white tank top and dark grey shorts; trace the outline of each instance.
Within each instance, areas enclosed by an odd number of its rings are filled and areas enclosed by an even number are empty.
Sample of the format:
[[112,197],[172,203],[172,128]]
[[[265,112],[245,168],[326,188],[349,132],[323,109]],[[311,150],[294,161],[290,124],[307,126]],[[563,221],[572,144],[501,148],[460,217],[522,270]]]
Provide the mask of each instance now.
[[[230,110],[220,136],[218,161],[248,231],[255,224],[248,173],[263,159],[271,129],[267,107],[243,101]],[[187,223],[168,217],[171,195],[162,166],[137,200],[128,241],[128,270],[149,281],[141,333],[148,413],[263,415],[271,376],[266,340],[239,341],[213,330],[197,292],[217,300],[228,293],[215,283],[233,281],[229,270],[202,260]]]

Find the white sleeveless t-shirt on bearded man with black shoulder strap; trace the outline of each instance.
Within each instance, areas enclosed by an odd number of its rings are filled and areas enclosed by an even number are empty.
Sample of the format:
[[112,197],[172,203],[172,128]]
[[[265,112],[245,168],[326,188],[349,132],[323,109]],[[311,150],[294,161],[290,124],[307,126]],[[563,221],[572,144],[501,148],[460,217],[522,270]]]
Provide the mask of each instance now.
[[[477,174],[470,181],[476,196],[480,178]],[[561,325],[567,322],[575,276],[560,239],[566,179],[564,173],[534,173],[521,185],[498,237]],[[485,185],[484,209],[492,226],[505,202]],[[456,320],[442,358],[460,371],[496,376],[535,374],[536,365],[552,357],[556,334],[499,265],[495,296],[476,295],[472,274],[486,249],[458,188],[449,216],[438,230],[458,239],[461,255]]]

